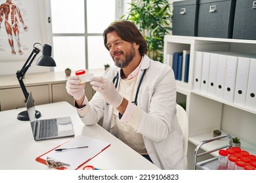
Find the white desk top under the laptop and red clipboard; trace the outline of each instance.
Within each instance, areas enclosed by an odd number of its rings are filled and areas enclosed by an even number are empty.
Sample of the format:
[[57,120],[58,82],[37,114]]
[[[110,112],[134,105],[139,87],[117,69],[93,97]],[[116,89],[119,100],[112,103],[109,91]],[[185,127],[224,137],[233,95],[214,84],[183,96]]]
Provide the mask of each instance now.
[[[159,169],[100,125],[84,125],[75,108],[67,102],[38,105],[35,108],[42,114],[40,119],[71,116],[75,136],[86,135],[111,143],[110,147],[85,165],[93,165],[105,170]],[[34,141],[30,122],[22,122],[16,118],[22,110],[25,108],[0,112],[0,169],[49,169],[46,165],[35,161],[35,158],[70,138]]]

